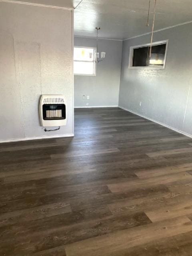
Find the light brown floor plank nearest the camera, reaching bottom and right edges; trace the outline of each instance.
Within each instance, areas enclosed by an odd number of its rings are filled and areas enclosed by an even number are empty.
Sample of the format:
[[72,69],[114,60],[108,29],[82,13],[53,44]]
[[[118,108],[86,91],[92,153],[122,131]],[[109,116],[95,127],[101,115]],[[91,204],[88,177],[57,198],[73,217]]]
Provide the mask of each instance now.
[[68,244],[65,247],[66,255],[125,255],[127,248],[189,231],[192,231],[192,222],[184,216]]

